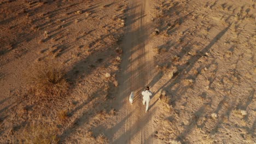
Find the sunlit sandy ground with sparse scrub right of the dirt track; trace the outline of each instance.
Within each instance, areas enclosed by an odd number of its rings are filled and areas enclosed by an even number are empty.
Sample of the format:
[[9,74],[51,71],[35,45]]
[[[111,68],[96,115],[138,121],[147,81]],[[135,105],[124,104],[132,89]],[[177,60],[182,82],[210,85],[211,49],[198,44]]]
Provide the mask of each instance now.
[[[158,1],[151,40],[166,143],[255,143],[255,1]],[[164,118],[161,118],[164,117]]]

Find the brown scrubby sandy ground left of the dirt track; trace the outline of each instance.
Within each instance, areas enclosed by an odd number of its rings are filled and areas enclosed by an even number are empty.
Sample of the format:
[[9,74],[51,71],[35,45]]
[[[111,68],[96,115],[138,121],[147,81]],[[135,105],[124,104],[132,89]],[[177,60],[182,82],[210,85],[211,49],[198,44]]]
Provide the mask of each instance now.
[[[118,86],[126,7],[123,1],[1,1],[0,143],[18,143],[28,125],[41,123],[57,127],[61,143],[99,141],[85,133],[115,112],[110,92]],[[27,81],[45,63],[66,68],[67,97],[30,95]]]

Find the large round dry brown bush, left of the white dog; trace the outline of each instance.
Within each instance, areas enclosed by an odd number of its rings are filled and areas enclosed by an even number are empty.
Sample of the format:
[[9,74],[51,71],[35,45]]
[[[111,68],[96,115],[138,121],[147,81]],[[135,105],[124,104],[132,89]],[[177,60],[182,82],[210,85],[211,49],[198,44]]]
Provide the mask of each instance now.
[[63,68],[50,65],[37,68],[35,72],[36,74],[30,80],[30,85],[36,95],[60,97],[68,94],[69,83]]

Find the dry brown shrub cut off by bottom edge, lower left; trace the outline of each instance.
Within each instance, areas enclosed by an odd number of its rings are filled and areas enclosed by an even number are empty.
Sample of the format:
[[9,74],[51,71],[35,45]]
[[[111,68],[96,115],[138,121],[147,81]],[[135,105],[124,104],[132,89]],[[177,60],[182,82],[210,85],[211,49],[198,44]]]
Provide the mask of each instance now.
[[49,124],[28,125],[22,133],[22,141],[34,144],[58,143],[57,128]]

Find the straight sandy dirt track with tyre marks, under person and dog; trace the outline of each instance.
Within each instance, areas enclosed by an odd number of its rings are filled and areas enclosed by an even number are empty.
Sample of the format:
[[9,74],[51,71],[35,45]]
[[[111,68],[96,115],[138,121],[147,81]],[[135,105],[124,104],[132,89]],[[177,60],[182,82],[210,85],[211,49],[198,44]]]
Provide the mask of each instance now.
[[[154,143],[152,134],[153,115],[156,111],[156,98],[150,101],[149,112],[142,104],[142,90],[152,84],[153,56],[149,50],[148,36],[148,1],[131,0],[126,26],[127,34],[123,42],[123,62],[121,64],[120,87],[115,105],[119,105],[120,115],[117,124],[109,131],[111,143]],[[150,85],[152,86],[152,85]],[[150,89],[153,91],[154,89]],[[129,95],[135,92],[133,104],[129,103]],[[153,91],[154,92],[154,91]]]

